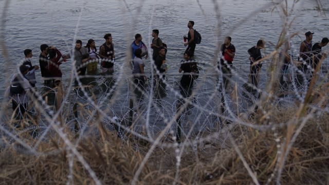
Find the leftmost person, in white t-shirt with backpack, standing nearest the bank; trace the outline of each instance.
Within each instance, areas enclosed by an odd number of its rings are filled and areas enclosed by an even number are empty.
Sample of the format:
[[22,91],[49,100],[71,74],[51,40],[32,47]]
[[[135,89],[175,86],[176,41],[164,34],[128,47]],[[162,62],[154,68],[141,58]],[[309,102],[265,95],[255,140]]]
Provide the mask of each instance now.
[[[28,108],[29,97],[27,92],[30,88],[30,83],[24,78],[29,68],[25,65],[20,66],[20,72],[12,76],[10,86],[6,90],[6,97],[11,98],[12,110],[15,118],[23,119],[23,115]],[[17,126],[18,127],[18,126]]]

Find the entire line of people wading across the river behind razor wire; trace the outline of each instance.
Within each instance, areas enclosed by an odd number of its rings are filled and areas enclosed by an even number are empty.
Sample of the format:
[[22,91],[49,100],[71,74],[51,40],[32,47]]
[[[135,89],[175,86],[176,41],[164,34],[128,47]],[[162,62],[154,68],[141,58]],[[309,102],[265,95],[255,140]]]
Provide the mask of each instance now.
[[[183,72],[182,78],[180,79],[180,87],[183,91],[189,92],[193,86],[193,81],[198,77],[198,67],[197,63],[193,60],[194,51],[196,44],[200,43],[200,34],[196,32],[193,28],[194,22],[188,22],[188,36],[187,41],[184,43],[187,46],[184,52],[184,60],[181,61],[180,68],[178,72]],[[314,33],[306,32],[306,40],[301,43],[300,46],[300,59],[302,64],[299,69],[306,71],[312,66],[315,68],[321,59],[325,58],[326,55],[322,53],[321,48],[328,44],[328,39],[323,38],[321,43],[312,43],[312,36]],[[167,45],[162,42],[159,38],[159,30],[154,29],[152,31],[152,44],[153,49],[152,61],[153,61],[153,73],[154,77],[161,81],[165,78],[166,71],[166,54]],[[198,38],[197,38],[197,37]],[[95,74],[98,69],[99,61],[101,62],[102,73],[107,73],[113,71],[115,65],[115,49],[112,42],[112,34],[107,33],[103,37],[105,42],[97,49],[95,41],[93,39],[88,40],[85,47],[82,46],[82,41],[77,40],[75,48],[70,52],[70,54],[63,55],[56,47],[48,46],[47,44],[42,44],[40,46],[40,56],[39,65],[41,70],[41,76],[44,78],[45,86],[57,88],[56,94],[56,108],[58,109],[62,103],[62,72],[60,70],[60,65],[66,62],[67,59],[74,55],[74,66],[76,68],[77,75],[84,76],[86,72],[88,74]],[[229,80],[231,78],[232,65],[235,57],[235,47],[231,43],[232,38],[227,36],[225,38],[224,44],[221,46],[221,58],[218,61],[218,70],[222,71],[223,74],[223,84],[224,88],[227,88]],[[262,59],[261,49],[265,47],[265,42],[259,40],[256,46],[248,49],[250,55],[250,75],[249,83],[254,87],[258,87],[259,82],[259,71],[261,70]],[[286,48],[281,54],[280,59],[283,61],[283,73],[287,71],[287,66],[289,65],[291,56],[288,54]],[[12,108],[16,117],[22,118],[25,113],[29,96],[26,96],[29,89],[35,87],[36,77],[35,70],[39,69],[38,65],[32,65],[31,58],[33,53],[31,49],[24,50],[25,59],[20,66],[20,72],[13,75],[11,79],[11,86],[7,89],[7,95],[12,99]],[[149,51],[146,44],[142,42],[142,36],[140,34],[135,35],[135,40],[131,44],[131,55],[132,55],[132,76],[133,82],[142,87],[144,86],[145,76],[144,71],[144,59],[149,58]],[[282,79],[280,80],[283,81]],[[189,97],[190,93],[186,93],[184,97]]]

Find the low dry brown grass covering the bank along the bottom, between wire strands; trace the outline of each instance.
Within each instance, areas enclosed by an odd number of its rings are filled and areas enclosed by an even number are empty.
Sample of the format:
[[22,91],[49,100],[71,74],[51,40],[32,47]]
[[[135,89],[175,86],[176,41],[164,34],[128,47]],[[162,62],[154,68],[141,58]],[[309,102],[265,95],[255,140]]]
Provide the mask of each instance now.
[[[276,110],[273,122],[280,123],[294,116],[296,110]],[[276,118],[276,119],[274,119]],[[329,142],[325,131],[329,116],[322,115],[307,121],[286,159],[282,184],[327,184],[329,182]],[[257,120],[253,120],[257,123]],[[323,132],[319,128],[324,129]],[[103,131],[104,132],[104,131]],[[286,126],[276,131],[259,132],[241,127],[232,128],[237,135],[243,157],[261,184],[276,176],[278,142],[284,140]],[[279,134],[278,135],[276,135]],[[106,139],[88,138],[79,142],[77,150],[104,184],[127,184],[134,177],[149,146],[125,143],[111,132],[105,131]],[[32,140],[32,139],[31,139]],[[75,141],[75,137],[69,137]],[[38,151],[47,155],[35,156],[17,153],[8,147],[0,153],[0,181],[4,184],[62,184],[69,181],[69,154],[61,139],[54,137],[43,142]],[[51,152],[51,153],[49,153]],[[173,148],[160,149],[152,154],[144,166],[137,184],[172,184],[176,174],[176,155]],[[93,184],[84,166],[74,157],[73,179],[76,184]],[[71,181],[69,181],[71,182]],[[232,147],[221,149],[219,143],[200,144],[197,151],[187,147],[181,156],[178,184],[251,184],[241,158]],[[275,183],[275,178],[269,184]]]

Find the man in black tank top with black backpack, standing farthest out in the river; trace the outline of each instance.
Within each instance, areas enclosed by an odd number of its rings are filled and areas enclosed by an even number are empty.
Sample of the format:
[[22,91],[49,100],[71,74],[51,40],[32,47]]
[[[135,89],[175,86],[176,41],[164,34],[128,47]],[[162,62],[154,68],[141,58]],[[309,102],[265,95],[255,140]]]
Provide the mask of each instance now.
[[188,46],[185,50],[185,53],[190,53],[191,57],[194,56],[194,50],[196,44],[200,44],[201,42],[201,35],[199,32],[193,29],[194,21],[189,21],[187,27],[189,28],[189,33],[187,37],[187,43],[184,43],[184,46]]

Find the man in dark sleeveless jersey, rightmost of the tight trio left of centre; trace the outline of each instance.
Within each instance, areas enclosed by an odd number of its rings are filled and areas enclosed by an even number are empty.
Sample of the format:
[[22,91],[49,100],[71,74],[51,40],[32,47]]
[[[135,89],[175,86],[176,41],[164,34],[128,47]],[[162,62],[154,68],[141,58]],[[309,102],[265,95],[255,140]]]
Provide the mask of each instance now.
[[115,60],[114,44],[112,42],[112,34],[106,33],[104,35],[105,43],[99,48],[99,57],[102,59],[102,72],[109,72],[113,70]]

